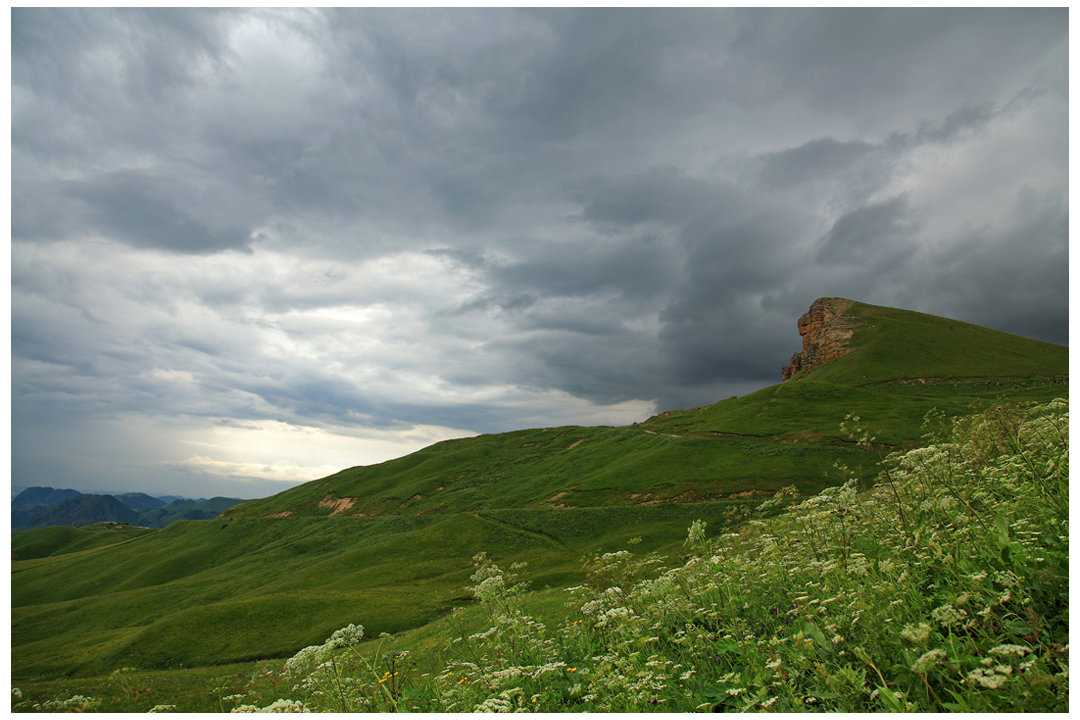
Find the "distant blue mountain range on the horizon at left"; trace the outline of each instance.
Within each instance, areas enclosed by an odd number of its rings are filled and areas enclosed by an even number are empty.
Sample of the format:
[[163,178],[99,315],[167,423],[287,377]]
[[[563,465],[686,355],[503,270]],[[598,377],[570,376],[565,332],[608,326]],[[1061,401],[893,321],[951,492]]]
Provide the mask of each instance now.
[[54,526],[79,528],[95,522],[164,528],[176,520],[207,520],[242,502],[240,498],[191,500],[176,495],[156,498],[145,492],[110,495],[32,487],[12,499],[11,528],[13,531]]

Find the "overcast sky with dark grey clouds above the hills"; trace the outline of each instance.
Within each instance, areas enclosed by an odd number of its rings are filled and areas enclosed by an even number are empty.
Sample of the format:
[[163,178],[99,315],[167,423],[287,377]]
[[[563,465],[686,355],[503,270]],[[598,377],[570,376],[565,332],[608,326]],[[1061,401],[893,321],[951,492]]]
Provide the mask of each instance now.
[[12,485],[629,424],[823,296],[1066,344],[1067,13],[15,8]]

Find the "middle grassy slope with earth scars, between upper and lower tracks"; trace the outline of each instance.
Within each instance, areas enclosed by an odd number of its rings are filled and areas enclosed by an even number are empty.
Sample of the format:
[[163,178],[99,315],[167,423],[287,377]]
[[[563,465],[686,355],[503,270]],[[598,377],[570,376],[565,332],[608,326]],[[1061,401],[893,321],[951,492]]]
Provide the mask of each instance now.
[[[328,516],[330,493],[354,498],[347,515],[475,512],[500,507],[604,506],[649,500],[719,500],[747,488],[822,487],[850,447],[800,446],[755,437],[672,437],[640,429],[556,427],[447,440],[406,458],[353,467],[229,517]],[[646,497],[647,495],[647,497]]]

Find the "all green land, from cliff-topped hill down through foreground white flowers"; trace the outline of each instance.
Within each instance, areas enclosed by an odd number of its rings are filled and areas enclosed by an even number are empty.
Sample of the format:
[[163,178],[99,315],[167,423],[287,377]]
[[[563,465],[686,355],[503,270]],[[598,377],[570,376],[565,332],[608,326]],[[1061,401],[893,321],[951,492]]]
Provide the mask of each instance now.
[[13,708],[1067,709],[1067,349],[853,312],[633,426],[15,533]]

